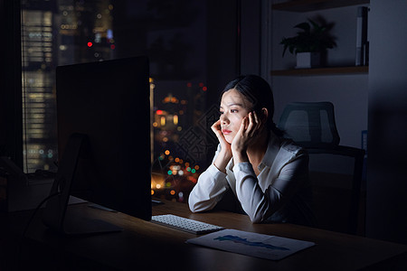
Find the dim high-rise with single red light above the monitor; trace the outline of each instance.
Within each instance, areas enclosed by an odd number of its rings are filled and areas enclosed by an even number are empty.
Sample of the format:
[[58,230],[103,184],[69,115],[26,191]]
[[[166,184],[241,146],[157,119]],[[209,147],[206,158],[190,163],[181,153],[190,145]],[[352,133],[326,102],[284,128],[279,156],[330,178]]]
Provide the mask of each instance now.
[[59,65],[113,58],[113,9],[109,0],[59,1]]

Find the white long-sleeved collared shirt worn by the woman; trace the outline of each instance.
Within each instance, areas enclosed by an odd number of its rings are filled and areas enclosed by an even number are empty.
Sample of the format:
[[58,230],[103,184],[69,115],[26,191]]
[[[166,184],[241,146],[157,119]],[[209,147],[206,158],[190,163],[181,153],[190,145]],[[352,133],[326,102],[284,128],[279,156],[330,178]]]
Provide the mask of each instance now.
[[[218,145],[213,161],[220,149]],[[211,164],[189,195],[190,210],[212,210],[231,189],[253,223],[272,220],[313,225],[307,152],[288,139],[271,135],[258,169],[256,176],[249,162],[233,164],[233,158],[226,173]]]

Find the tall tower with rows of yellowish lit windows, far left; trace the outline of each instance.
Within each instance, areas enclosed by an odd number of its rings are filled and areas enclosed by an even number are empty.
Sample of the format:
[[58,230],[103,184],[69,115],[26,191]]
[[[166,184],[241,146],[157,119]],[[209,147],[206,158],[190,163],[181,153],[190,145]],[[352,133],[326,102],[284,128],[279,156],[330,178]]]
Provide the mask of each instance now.
[[56,155],[54,4],[23,2],[24,170],[52,169]]

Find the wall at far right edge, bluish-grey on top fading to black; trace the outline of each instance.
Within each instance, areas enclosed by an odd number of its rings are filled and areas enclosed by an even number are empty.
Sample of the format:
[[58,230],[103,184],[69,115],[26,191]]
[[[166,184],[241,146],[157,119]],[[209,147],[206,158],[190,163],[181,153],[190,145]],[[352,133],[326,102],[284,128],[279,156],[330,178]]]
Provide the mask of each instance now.
[[407,243],[407,2],[370,3],[366,235]]

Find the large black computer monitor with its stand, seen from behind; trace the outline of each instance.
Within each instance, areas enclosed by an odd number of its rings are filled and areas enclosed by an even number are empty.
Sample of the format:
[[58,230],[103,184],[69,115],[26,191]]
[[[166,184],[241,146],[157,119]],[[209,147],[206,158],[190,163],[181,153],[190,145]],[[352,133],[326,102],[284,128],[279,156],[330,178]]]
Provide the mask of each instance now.
[[[57,67],[56,98],[59,169],[44,223],[71,231],[66,207],[70,195],[150,220],[147,57]],[[72,223],[86,224],[77,219]],[[98,225],[87,227],[96,232]]]

